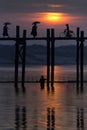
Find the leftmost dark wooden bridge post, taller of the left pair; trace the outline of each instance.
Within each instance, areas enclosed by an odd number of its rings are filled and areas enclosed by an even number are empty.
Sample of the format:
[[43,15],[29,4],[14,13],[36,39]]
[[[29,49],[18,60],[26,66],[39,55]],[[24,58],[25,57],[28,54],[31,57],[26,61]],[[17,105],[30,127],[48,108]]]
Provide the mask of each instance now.
[[18,91],[18,62],[19,62],[19,37],[20,28],[16,26],[16,44],[15,44],[15,90]]

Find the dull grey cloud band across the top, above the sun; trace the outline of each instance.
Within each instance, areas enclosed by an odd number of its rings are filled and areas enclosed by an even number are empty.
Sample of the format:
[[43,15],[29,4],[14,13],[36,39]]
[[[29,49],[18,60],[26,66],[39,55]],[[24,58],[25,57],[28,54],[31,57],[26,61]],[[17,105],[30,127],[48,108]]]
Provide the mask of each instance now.
[[86,15],[87,0],[3,0],[0,13],[65,12]]

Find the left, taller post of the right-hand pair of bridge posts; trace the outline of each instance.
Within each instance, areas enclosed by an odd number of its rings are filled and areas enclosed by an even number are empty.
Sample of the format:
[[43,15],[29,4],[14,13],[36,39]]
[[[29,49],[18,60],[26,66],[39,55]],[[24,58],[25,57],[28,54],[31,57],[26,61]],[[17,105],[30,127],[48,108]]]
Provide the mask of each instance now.
[[79,90],[79,34],[80,28],[77,28],[77,45],[76,45],[76,83],[77,83],[77,91]]

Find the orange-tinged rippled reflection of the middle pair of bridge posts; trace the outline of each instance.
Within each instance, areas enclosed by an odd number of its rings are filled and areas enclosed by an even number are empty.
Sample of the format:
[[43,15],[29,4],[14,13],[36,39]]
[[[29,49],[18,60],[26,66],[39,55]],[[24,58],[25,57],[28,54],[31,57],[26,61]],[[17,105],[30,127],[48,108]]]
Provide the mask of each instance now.
[[55,129],[55,109],[47,108],[47,130]]

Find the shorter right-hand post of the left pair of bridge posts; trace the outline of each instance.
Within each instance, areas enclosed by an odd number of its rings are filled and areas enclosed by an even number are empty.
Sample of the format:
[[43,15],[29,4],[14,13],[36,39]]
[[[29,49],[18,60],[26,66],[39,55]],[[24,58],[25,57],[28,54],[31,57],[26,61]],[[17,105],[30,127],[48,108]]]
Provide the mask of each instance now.
[[26,30],[23,31],[23,59],[22,59],[22,90],[25,90],[25,58],[26,58]]

